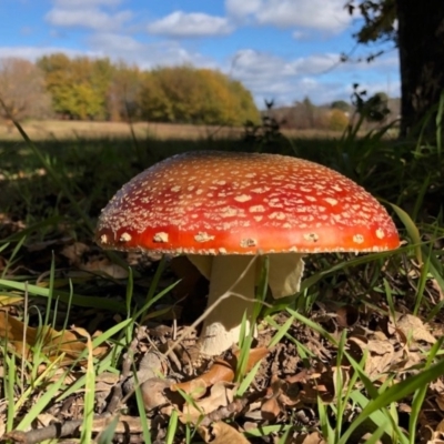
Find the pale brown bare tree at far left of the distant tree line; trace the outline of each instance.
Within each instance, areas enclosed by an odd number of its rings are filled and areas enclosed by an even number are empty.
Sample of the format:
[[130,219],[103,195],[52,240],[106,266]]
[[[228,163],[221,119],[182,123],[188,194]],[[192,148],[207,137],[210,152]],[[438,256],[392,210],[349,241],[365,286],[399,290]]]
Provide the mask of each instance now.
[[22,120],[47,118],[51,113],[43,73],[28,60],[0,59],[0,98],[7,108],[6,111],[0,107],[0,117],[7,120],[9,115]]

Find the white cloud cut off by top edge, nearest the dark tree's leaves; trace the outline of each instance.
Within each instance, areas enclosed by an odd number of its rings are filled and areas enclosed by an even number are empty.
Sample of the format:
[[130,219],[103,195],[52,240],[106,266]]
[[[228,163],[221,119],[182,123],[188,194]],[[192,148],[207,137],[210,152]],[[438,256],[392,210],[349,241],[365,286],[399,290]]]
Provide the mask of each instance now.
[[238,18],[253,17],[259,24],[306,28],[329,33],[343,31],[351,22],[343,0],[225,0],[226,11]]

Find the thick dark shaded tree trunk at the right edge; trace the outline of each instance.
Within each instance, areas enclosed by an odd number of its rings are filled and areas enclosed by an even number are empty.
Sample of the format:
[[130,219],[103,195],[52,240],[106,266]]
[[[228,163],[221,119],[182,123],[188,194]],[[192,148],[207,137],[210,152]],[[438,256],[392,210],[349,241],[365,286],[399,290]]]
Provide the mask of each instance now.
[[[444,0],[396,0],[401,62],[401,137],[421,130],[444,91]],[[433,131],[435,121],[430,121]]]

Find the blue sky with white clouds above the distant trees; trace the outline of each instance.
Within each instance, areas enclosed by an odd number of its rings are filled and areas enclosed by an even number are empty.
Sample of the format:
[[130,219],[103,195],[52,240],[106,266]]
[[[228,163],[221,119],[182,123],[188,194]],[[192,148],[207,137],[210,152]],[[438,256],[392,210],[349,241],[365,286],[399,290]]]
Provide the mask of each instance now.
[[[345,0],[0,0],[0,58],[109,57],[142,69],[221,70],[264,100],[350,100],[353,83],[400,97],[398,57],[340,63],[359,18]],[[374,49],[374,48],[373,48]],[[379,49],[379,48],[377,48]]]

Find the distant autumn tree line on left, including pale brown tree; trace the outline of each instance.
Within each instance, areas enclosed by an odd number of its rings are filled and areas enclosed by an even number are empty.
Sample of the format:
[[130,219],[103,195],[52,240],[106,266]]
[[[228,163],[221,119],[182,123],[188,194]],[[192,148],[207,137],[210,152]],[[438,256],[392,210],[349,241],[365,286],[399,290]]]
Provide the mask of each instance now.
[[190,65],[141,70],[108,58],[63,53],[36,63],[0,60],[0,98],[19,120],[57,117],[226,125],[260,121],[251,92],[220,71]]

